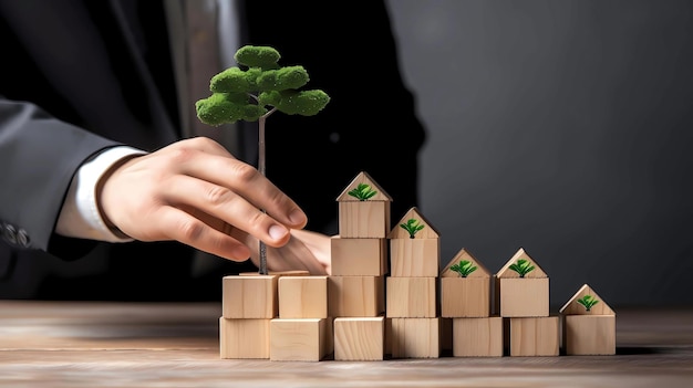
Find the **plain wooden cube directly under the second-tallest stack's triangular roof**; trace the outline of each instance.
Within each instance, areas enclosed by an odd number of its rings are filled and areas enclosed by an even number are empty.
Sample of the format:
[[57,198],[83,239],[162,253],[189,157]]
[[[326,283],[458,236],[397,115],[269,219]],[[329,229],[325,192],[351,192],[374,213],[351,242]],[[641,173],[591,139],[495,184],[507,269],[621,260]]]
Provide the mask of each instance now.
[[390,275],[437,277],[441,262],[439,239],[390,240]]

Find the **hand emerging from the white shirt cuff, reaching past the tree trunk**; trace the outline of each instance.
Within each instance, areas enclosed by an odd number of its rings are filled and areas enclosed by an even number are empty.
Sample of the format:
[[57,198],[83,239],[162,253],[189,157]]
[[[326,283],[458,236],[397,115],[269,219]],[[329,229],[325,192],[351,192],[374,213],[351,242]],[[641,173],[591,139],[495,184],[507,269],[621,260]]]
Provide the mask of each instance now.
[[250,256],[249,235],[278,248],[307,223],[298,205],[257,169],[205,137],[128,159],[99,190],[104,219],[131,238],[177,240],[234,261]]

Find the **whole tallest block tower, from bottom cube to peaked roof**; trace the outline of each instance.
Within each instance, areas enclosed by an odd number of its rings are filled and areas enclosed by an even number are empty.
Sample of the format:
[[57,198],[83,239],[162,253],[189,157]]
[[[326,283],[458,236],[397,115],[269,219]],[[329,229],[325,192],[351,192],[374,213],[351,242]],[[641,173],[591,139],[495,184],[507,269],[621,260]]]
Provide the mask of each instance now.
[[339,235],[331,240],[332,273],[328,277],[334,359],[382,360],[392,198],[362,171],[337,201]]

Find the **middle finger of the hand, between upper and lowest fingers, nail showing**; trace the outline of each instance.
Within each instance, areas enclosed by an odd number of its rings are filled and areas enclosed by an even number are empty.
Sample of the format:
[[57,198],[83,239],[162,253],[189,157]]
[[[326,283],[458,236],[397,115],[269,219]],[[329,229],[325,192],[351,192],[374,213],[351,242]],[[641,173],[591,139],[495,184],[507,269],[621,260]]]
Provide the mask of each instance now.
[[164,199],[177,208],[198,209],[252,234],[270,247],[281,247],[289,241],[287,227],[228,188],[182,175],[172,177],[166,185],[169,188],[164,191]]

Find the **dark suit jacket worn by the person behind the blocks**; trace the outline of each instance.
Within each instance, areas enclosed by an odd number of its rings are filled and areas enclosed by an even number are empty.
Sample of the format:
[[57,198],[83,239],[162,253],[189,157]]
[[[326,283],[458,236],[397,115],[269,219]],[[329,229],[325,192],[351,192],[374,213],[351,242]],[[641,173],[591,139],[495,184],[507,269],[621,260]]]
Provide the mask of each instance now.
[[[424,130],[397,67],[386,7],[310,8],[240,7],[241,43],[277,48],[281,64],[302,64],[311,88],[332,98],[313,117],[268,119],[267,176],[303,207],[309,229],[337,232],[335,198],[360,171],[393,197],[399,220],[417,205]],[[190,280],[188,247],[53,232],[72,176],[91,155],[117,144],[155,150],[182,137],[162,1],[0,0],[0,296],[220,297],[220,274]],[[50,270],[60,259],[79,260],[60,274]],[[32,276],[41,282],[31,292],[18,287],[35,283]]]

